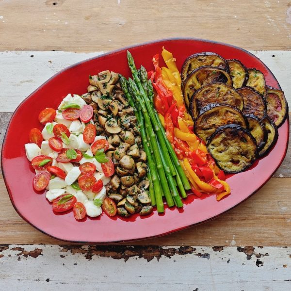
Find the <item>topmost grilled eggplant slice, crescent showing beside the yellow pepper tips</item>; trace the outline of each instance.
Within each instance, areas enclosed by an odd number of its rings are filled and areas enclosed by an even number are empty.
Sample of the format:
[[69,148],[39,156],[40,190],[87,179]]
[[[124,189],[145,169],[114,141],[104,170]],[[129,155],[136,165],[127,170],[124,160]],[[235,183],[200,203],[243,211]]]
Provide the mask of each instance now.
[[186,77],[195,69],[205,65],[219,67],[225,71],[228,70],[226,60],[220,55],[214,52],[195,53],[188,57],[185,60],[184,64],[182,65],[181,69],[182,80],[185,80]]

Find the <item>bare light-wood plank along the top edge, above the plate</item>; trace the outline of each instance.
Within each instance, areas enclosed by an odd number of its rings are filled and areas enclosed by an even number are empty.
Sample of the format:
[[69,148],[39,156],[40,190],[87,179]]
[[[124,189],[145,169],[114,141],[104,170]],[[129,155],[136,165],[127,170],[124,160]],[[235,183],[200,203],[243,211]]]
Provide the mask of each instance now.
[[88,52],[173,36],[290,49],[290,5],[289,0],[0,1],[0,50]]

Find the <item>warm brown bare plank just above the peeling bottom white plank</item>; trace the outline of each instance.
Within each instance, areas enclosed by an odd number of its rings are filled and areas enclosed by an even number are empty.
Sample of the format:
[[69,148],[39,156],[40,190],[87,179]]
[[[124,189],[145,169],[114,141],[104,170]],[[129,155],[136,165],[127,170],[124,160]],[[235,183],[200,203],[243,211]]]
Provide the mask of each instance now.
[[[0,243],[61,243],[23,221],[4,189],[0,178]],[[271,178],[247,201],[210,222],[161,238],[130,244],[290,246],[290,189],[291,178]]]

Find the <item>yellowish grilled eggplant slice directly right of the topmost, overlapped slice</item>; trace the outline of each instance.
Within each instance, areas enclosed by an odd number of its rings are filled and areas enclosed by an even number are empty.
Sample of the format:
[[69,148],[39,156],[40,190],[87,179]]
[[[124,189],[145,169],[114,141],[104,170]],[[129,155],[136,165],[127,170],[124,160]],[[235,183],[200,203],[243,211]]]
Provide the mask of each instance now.
[[248,72],[239,60],[226,60],[233,88],[241,88],[247,82]]

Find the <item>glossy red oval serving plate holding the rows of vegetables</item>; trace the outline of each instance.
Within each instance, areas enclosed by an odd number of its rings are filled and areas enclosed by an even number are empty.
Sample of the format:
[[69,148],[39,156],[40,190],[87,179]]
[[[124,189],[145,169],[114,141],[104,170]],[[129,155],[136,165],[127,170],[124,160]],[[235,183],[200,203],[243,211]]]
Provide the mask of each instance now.
[[153,69],[152,57],[161,53],[163,46],[173,53],[179,69],[189,55],[212,51],[226,59],[238,59],[246,67],[256,67],[263,72],[267,85],[280,89],[270,69],[251,53],[223,43],[200,39],[159,40],[106,53],[64,69],[18,106],[6,131],[1,157],[2,172],[11,202],[25,221],[43,233],[67,242],[109,243],[141,240],[213,219],[246,200],[272,177],[286,155],[288,119],[278,129],[277,143],[266,157],[255,162],[247,171],[227,177],[231,194],[219,202],[215,195],[197,199],[192,194],[184,200],[183,209],[166,208],[164,214],[154,211],[147,217],[135,214],[129,219],[123,219],[117,216],[110,218],[103,213],[97,218],[87,217],[78,222],[72,211],[54,214],[45,194],[33,191],[34,172],[25,156],[24,144],[28,143],[30,129],[42,129],[38,122],[38,113],[46,107],[57,108],[68,93],[85,93],[89,75],[99,71],[108,69],[129,77],[127,49],[132,53],[137,66],[142,64],[147,70]]

